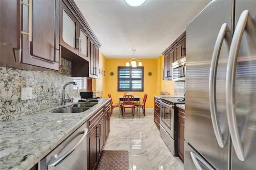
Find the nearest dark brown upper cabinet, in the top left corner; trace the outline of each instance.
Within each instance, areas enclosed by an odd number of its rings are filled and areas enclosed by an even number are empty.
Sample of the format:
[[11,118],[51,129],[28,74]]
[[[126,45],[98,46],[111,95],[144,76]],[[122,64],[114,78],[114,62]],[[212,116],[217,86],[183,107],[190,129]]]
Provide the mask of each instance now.
[[25,70],[58,70],[59,1],[0,3],[0,65]]

